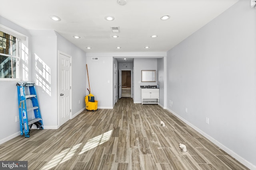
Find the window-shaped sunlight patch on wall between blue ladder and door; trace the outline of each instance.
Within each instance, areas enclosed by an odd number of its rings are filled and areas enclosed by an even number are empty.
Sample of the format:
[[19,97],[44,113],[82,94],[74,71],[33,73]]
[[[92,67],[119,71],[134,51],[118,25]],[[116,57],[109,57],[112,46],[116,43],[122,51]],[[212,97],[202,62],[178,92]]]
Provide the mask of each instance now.
[[50,67],[35,54],[36,61],[36,86],[42,87],[42,89],[51,96],[51,72]]

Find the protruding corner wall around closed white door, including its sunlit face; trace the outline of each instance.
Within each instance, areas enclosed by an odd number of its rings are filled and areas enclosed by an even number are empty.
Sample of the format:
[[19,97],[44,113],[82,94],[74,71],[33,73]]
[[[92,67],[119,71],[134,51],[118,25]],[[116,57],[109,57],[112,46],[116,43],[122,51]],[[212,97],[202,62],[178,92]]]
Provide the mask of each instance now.
[[[32,43],[32,63],[35,58],[50,69],[50,78],[47,80],[38,74],[37,68],[32,69],[36,86],[38,102],[45,129],[58,128],[58,51],[62,51],[72,58],[72,111],[74,117],[85,109],[84,96],[86,93],[86,53],[64,39],[53,30],[30,30]],[[40,77],[39,79],[37,77]],[[50,87],[50,93],[46,84]],[[80,103],[79,103],[80,102]]]

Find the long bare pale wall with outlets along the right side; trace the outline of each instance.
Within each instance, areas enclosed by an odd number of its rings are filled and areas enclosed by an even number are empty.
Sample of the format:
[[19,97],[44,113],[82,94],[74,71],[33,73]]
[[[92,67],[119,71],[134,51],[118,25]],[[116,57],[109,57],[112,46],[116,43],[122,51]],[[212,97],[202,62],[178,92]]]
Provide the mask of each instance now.
[[256,10],[240,0],[167,55],[168,109],[253,169],[255,30]]

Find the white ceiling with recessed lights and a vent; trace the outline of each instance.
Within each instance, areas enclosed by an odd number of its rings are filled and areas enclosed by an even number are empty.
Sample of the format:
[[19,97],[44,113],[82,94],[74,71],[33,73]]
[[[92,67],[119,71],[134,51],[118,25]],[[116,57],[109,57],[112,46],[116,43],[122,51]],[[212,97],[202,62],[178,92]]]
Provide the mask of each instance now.
[[[121,6],[118,0],[3,0],[0,16],[25,29],[55,30],[88,53],[166,52],[236,2],[127,0]],[[61,21],[51,20],[51,15]],[[164,15],[170,19],[160,20]],[[115,20],[106,21],[105,16]],[[120,33],[112,33],[111,26],[119,26]]]

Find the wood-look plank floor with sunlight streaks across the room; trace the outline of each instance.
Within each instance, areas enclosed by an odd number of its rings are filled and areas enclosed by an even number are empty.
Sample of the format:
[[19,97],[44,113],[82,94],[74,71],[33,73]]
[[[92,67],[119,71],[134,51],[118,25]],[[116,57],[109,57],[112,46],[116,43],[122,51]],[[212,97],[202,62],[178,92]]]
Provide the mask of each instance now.
[[0,160],[26,160],[29,170],[248,170],[169,111],[132,98],[32,129],[0,145]]

